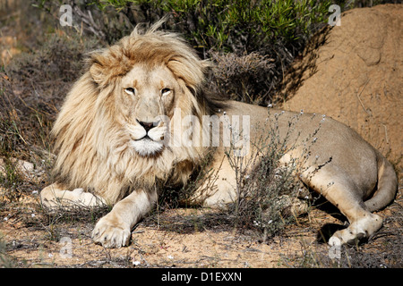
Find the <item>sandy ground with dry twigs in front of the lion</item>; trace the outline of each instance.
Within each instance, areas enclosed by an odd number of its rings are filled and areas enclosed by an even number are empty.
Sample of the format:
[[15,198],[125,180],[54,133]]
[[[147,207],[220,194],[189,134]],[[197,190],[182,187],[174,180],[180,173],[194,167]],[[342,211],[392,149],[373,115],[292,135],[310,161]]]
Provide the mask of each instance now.
[[209,209],[170,209],[139,223],[127,248],[109,249],[90,239],[98,217],[85,212],[80,219],[49,216],[37,196],[22,198],[1,213],[7,261],[16,267],[399,267],[402,262],[401,199],[379,213],[388,218],[370,243],[342,248],[339,257],[331,257],[332,249],[318,241],[319,231],[325,224],[342,223],[316,208],[267,239],[231,227]]

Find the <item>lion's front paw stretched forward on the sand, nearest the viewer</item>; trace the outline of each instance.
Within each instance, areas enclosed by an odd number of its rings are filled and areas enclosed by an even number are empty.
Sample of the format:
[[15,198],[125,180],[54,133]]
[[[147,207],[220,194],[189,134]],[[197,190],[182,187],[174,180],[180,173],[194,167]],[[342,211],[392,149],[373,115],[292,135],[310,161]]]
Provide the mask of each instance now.
[[92,231],[92,240],[105,248],[121,248],[129,244],[130,228],[116,223],[108,214],[102,217]]

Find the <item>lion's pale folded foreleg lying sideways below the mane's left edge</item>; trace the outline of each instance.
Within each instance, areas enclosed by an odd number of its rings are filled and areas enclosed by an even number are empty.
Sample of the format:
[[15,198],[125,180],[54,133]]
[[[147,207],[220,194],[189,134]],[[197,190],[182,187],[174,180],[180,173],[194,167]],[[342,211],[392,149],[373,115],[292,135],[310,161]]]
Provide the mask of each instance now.
[[49,209],[58,207],[80,207],[80,206],[105,206],[103,198],[97,197],[83,189],[64,189],[60,184],[54,183],[42,189],[40,192],[40,202],[42,206]]

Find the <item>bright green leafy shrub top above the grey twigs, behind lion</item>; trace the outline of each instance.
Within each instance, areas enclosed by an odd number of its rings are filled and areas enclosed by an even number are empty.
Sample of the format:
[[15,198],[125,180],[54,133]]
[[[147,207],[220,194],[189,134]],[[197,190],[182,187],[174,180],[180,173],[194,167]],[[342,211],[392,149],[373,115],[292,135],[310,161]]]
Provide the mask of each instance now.
[[[175,28],[199,48],[219,52],[265,52],[276,42],[298,46],[314,26],[327,20],[330,0],[107,0],[97,4],[102,11],[114,7],[146,12],[143,20],[172,13]],[[131,8],[131,9],[130,9]],[[153,15],[152,13],[155,15]],[[131,17],[128,17],[131,18]],[[135,21],[136,19],[134,19]],[[137,23],[136,21],[133,24]]]

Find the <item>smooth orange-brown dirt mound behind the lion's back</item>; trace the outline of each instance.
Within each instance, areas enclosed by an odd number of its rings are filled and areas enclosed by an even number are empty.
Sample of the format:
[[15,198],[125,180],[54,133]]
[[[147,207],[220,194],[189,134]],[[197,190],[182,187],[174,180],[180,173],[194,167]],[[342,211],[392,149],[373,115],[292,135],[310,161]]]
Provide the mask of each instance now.
[[344,122],[401,170],[403,5],[354,9],[295,63],[282,108]]

